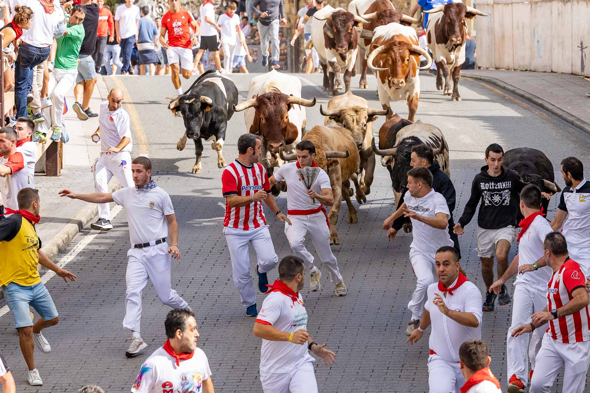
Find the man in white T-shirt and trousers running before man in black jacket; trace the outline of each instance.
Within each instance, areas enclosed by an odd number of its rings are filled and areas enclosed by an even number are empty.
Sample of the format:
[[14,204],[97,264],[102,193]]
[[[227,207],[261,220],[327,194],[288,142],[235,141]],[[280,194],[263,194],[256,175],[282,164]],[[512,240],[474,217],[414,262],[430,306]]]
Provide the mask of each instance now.
[[408,303],[412,318],[408,323],[406,335],[418,328],[426,290],[436,281],[434,272],[434,254],[439,247],[452,246],[453,240],[448,235],[450,212],[444,196],[432,189],[432,173],[425,167],[416,167],[408,171],[408,191],[404,195],[404,203],[399,209],[383,222],[390,242],[395,240],[397,231],[391,226],[395,219],[409,217],[412,220],[412,244],[409,246],[409,259],[416,275],[416,290]]

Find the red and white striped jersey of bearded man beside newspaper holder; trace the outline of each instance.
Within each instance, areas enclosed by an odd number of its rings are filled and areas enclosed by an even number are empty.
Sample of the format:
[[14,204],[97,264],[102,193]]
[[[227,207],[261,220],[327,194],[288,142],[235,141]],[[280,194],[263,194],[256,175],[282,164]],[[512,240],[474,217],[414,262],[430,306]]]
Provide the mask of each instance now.
[[[255,163],[245,166],[237,159],[229,164],[221,176],[223,196],[252,196],[260,189],[270,190],[268,174],[263,166]],[[225,218],[223,226],[250,230],[266,224],[262,201],[252,202],[242,207],[230,207],[225,200]]]

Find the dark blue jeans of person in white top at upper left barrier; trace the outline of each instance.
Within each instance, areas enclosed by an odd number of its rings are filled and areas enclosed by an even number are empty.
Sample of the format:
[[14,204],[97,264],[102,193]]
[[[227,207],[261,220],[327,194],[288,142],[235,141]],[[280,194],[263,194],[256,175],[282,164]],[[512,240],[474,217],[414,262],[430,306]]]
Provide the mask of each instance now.
[[14,100],[17,117],[27,117],[27,93],[32,90],[34,68],[49,57],[51,47],[37,48],[21,44],[14,71]]

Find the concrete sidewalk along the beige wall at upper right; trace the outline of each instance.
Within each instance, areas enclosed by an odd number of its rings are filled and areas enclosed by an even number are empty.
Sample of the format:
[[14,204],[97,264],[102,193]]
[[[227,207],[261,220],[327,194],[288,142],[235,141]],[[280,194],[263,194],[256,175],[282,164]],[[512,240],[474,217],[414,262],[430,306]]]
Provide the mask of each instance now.
[[539,105],[590,134],[590,78],[556,72],[461,70],[461,76],[481,80]]

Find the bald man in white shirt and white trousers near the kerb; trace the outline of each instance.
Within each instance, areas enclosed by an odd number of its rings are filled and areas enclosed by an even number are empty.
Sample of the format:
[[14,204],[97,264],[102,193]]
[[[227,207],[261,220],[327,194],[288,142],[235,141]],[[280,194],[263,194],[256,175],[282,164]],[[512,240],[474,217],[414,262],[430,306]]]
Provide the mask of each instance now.
[[[123,187],[133,186],[131,175],[131,130],[129,114],[121,107],[123,91],[114,88],[107,101],[100,104],[99,128],[92,134],[94,143],[100,140],[100,156],[94,161],[94,191],[108,193],[108,184],[114,176]],[[90,224],[92,229],[113,229],[110,223],[110,206],[99,203],[99,219]]]

